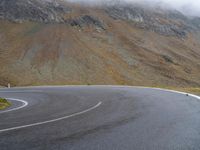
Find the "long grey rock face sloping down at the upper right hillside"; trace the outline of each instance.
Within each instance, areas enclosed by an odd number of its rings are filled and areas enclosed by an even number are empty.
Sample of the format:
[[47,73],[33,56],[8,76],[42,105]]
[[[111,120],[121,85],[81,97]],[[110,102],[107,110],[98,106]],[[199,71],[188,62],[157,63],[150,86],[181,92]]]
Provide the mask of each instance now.
[[[154,10],[131,5],[108,7],[106,12],[113,19],[129,21],[136,27],[151,30],[166,36],[184,38],[188,32],[187,26],[183,21],[185,18],[181,13],[174,16],[169,11],[158,13]],[[180,19],[182,22],[177,24],[175,21],[177,19]]]

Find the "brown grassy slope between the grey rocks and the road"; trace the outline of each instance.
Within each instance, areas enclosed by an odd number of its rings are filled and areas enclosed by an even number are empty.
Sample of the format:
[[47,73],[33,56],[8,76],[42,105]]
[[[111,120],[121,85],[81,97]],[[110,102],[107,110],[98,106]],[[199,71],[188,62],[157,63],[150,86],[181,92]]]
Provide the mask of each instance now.
[[200,41],[194,34],[166,37],[101,10],[80,11],[66,17],[97,16],[106,31],[0,21],[0,84],[200,87]]

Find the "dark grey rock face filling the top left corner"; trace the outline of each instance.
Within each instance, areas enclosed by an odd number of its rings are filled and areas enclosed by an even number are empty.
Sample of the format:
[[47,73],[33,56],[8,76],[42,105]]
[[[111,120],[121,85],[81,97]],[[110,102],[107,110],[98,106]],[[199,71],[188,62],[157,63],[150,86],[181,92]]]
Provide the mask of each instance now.
[[69,8],[53,0],[0,0],[0,18],[21,22],[64,22]]

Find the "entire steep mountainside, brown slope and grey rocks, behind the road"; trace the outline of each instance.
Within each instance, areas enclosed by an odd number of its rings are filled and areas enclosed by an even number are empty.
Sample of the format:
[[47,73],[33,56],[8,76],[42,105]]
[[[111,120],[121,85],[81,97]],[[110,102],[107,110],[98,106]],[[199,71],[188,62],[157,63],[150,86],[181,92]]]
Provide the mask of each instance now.
[[39,0],[2,0],[0,16],[1,85],[200,86],[199,18]]

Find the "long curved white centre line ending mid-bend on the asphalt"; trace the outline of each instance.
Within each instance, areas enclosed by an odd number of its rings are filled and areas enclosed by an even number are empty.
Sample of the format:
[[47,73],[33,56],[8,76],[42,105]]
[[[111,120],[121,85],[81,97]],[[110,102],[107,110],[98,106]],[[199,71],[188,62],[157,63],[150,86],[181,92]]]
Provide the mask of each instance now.
[[84,113],[86,113],[86,112],[89,112],[89,111],[91,111],[91,110],[93,110],[93,109],[99,107],[101,104],[102,104],[102,102],[99,102],[99,103],[96,104],[95,106],[93,106],[93,107],[91,107],[91,108],[88,108],[88,109],[86,109],[86,110],[84,110],[84,111],[77,112],[77,113],[74,113],[74,114],[71,114],[71,115],[68,115],[68,116],[64,116],[64,117],[61,117],[61,118],[52,119],[52,120],[47,120],[47,121],[43,121],[43,122],[37,122],[37,123],[28,124],[28,125],[23,125],[23,126],[18,126],[18,127],[12,127],[12,128],[7,128],[7,129],[1,129],[1,130],[0,130],[0,133],[1,133],[1,132],[5,132],[5,131],[11,131],[11,130],[17,130],[17,129],[27,128],[27,127],[32,127],[32,126],[38,126],[38,125],[42,125],[42,124],[52,123],[52,122],[56,122],[56,121],[68,119],[68,118],[71,118],[71,117],[75,117],[75,116],[84,114]]

